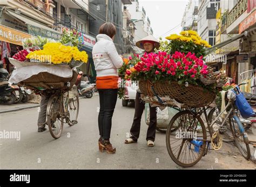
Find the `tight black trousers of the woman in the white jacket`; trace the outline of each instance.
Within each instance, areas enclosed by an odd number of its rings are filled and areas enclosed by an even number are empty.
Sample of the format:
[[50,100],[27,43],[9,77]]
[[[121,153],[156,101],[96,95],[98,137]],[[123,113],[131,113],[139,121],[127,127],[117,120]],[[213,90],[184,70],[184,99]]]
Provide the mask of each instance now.
[[110,138],[112,116],[117,103],[117,89],[98,89],[99,91],[99,135],[103,139]]

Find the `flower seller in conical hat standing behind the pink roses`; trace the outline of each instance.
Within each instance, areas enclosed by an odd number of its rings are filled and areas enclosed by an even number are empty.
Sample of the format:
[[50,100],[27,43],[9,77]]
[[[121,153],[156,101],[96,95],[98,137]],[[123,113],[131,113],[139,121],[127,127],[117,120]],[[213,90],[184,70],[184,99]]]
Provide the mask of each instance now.
[[[159,41],[154,38],[152,35],[149,35],[142,40],[136,42],[136,46],[144,49],[143,54],[154,52],[154,48],[159,48]],[[133,118],[132,127],[130,130],[131,136],[129,139],[125,140],[125,143],[134,143],[138,141],[140,133],[140,121],[142,119],[142,114],[145,108],[145,103],[141,99],[141,92],[137,89],[136,99],[135,99],[135,113]],[[154,139],[156,136],[156,127],[157,127],[157,107],[150,106],[150,124],[147,128],[147,146],[154,146]]]

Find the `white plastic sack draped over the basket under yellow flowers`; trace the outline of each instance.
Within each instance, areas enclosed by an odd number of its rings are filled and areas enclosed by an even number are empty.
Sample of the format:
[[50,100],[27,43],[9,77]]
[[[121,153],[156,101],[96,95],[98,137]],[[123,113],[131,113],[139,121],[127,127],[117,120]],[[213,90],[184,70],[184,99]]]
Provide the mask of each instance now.
[[72,69],[67,66],[25,66],[12,71],[9,84],[17,84],[41,72],[48,72],[50,74],[64,78],[72,77]]

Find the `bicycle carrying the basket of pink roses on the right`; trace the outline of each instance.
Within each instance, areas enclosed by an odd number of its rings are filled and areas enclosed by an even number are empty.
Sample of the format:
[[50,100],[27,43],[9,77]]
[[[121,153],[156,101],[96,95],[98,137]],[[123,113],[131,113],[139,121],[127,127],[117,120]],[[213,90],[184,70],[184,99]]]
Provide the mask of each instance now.
[[[228,114],[225,116],[223,121],[221,121],[217,130],[214,130],[213,125],[221,118],[221,114],[223,114],[228,107],[231,107],[230,111],[228,111]],[[242,156],[246,159],[249,159],[251,156],[249,147],[250,142],[247,134],[245,133],[244,127],[237,116],[237,107],[235,106],[234,101],[229,99],[225,110],[219,113],[218,117],[213,121],[208,119],[206,110],[209,108],[210,106],[180,111],[171,119],[170,124],[167,127],[167,151],[171,156],[171,159],[181,167],[194,166],[194,164],[199,162],[201,157],[207,154],[207,150],[210,149],[210,145],[214,150],[220,149],[223,145],[221,133],[226,131],[227,124],[230,127],[233,139]],[[204,114],[206,119],[208,133],[210,135],[207,135],[202,114]],[[209,136],[210,140],[207,139]],[[179,141],[181,142],[179,143]]]

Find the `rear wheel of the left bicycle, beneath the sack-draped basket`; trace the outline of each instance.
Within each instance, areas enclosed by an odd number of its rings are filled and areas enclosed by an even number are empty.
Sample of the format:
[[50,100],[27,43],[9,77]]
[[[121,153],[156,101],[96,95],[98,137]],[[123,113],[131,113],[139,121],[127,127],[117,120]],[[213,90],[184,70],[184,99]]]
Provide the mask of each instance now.
[[63,130],[63,107],[62,99],[51,96],[47,105],[47,124],[53,138],[58,139]]

